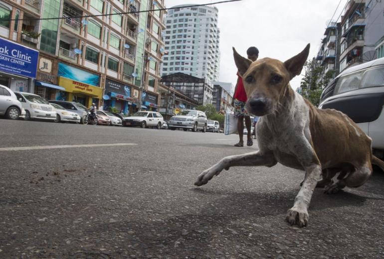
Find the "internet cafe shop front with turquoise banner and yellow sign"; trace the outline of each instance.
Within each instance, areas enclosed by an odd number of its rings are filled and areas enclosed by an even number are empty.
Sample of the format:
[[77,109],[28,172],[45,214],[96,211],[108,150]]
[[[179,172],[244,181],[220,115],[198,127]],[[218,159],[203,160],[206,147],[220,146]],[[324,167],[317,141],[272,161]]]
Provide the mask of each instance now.
[[77,102],[86,107],[95,103],[99,107],[103,95],[99,83],[100,76],[59,63],[58,85],[64,90],[56,92],[56,100]]

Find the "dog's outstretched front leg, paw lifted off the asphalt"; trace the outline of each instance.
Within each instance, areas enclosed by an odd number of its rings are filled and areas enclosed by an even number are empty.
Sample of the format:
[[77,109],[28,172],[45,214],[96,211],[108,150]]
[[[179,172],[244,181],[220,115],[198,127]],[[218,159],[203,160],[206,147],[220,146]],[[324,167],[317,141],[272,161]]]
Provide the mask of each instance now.
[[223,169],[228,170],[232,166],[273,166],[276,159],[272,152],[261,153],[256,152],[245,153],[241,155],[230,155],[221,159],[217,164],[203,171],[194,183],[197,186],[206,184],[213,176],[218,175]]

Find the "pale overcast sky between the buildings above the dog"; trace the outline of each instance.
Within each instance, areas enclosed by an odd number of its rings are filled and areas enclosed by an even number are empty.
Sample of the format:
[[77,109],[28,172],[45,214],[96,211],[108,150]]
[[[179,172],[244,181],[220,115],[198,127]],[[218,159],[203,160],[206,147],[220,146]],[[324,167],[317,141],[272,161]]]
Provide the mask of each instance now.
[[[172,7],[216,1],[219,0],[165,0],[165,4]],[[341,0],[334,19],[339,17],[346,2]],[[256,46],[259,58],[285,61],[311,43],[309,57],[312,58],[338,3],[338,0],[241,0],[216,4],[221,54],[219,81],[236,83],[232,46],[243,56],[248,47]],[[292,79],[294,89],[300,86],[301,78]]]

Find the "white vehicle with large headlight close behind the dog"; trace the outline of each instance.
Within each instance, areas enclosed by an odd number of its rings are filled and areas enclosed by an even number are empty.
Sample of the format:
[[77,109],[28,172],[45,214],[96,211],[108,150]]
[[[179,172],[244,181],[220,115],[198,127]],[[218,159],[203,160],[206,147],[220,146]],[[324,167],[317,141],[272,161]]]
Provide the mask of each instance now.
[[323,91],[321,109],[348,115],[372,138],[372,148],[384,150],[384,58],[353,66],[340,73]]

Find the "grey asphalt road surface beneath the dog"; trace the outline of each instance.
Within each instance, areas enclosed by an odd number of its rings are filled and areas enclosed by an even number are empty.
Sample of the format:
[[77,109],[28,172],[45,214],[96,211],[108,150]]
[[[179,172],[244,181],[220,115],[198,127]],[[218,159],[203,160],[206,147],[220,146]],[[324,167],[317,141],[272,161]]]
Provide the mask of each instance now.
[[[197,175],[234,147],[222,133],[0,119],[0,258],[384,258],[384,173],[316,189],[306,228],[284,219],[303,172]],[[129,143],[134,145],[101,144]],[[82,145],[4,150],[19,146]]]

